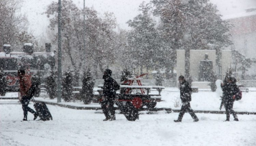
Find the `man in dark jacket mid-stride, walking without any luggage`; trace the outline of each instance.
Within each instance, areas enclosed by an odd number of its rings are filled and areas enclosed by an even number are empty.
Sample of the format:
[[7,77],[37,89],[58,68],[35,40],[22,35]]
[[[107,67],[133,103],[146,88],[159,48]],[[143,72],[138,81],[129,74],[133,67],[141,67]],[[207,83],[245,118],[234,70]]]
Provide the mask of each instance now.
[[196,114],[190,107],[191,102],[191,94],[192,94],[192,88],[189,85],[189,83],[185,80],[184,76],[179,76],[179,82],[180,82],[180,99],[182,102],[180,114],[178,116],[177,120],[174,120],[174,122],[181,122],[183,115],[185,114],[185,111],[188,111],[188,113],[191,115],[191,117],[194,119],[194,122],[199,121],[199,119],[196,117]]

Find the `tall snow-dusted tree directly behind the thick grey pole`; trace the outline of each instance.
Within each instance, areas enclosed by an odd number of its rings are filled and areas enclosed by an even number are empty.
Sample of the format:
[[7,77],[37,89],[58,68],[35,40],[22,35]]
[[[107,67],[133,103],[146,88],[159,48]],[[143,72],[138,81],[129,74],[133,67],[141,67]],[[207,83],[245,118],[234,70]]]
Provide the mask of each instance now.
[[[86,7],[81,10],[72,0],[63,0],[61,5],[64,66],[72,67],[76,74],[76,82],[81,68],[86,66],[93,67],[94,75],[98,78],[98,69],[103,72],[105,66],[111,65],[115,60],[113,47],[115,33],[112,29],[116,25],[116,20],[113,13],[105,13],[101,19],[93,8]],[[55,31],[58,25],[58,3],[52,2],[48,5],[45,13],[50,19],[50,29]],[[83,15],[86,19],[85,24],[83,24]],[[57,35],[53,43],[57,43]]]

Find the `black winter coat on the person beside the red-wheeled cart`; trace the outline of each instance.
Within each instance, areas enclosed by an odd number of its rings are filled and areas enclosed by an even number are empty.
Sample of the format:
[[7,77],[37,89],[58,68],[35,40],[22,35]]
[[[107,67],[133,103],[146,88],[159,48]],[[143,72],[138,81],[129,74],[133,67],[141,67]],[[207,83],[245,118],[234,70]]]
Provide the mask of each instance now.
[[103,96],[106,96],[108,98],[113,98],[116,94],[116,90],[120,89],[120,85],[111,78],[110,76],[106,79],[104,79],[104,85],[103,85]]

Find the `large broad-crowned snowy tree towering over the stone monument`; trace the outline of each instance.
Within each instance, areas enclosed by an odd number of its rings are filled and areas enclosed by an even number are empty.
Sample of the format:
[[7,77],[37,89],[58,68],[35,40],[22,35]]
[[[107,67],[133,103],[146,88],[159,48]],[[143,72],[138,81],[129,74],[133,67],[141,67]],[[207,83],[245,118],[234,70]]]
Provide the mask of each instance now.
[[153,0],[154,15],[160,17],[158,29],[167,46],[174,51],[170,61],[175,63],[177,49],[185,50],[185,77],[189,78],[190,50],[211,50],[227,47],[231,25],[222,20],[215,5],[209,0]]

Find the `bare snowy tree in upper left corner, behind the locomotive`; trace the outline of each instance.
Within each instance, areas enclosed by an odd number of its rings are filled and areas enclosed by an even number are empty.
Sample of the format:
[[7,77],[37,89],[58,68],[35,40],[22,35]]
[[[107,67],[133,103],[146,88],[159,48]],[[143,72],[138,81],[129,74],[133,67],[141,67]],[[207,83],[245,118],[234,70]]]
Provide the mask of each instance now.
[[0,1],[0,46],[11,44],[20,51],[24,43],[35,43],[31,32],[27,31],[27,16],[19,14],[22,0]]

